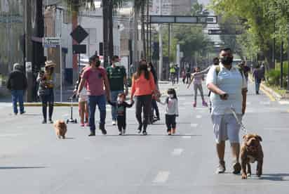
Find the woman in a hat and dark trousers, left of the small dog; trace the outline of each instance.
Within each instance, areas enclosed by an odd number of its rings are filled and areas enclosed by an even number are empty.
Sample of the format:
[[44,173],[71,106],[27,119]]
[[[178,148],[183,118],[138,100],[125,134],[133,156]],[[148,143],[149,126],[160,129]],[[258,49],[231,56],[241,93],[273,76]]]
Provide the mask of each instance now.
[[45,63],[45,71],[41,71],[36,81],[39,82],[39,96],[42,101],[42,114],[43,114],[43,124],[47,123],[47,106],[48,106],[48,121],[53,123],[53,104],[54,104],[54,81],[53,81],[53,70],[55,68],[55,63],[48,60]]

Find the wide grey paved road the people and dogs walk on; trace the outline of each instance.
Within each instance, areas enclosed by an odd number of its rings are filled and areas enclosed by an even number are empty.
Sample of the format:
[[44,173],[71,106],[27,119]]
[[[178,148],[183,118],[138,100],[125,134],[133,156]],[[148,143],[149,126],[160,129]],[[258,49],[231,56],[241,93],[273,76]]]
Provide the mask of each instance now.
[[[230,173],[229,146],[227,174],[215,174],[208,108],[200,101],[192,108],[192,91],[183,85],[177,86],[177,93],[180,118],[175,136],[166,135],[163,117],[149,126],[148,136],[137,135],[134,109],[128,110],[128,135],[118,136],[108,108],[107,136],[98,131],[88,138],[87,128],[69,124],[67,139],[58,140],[51,124],[40,124],[40,108],[12,116],[10,105],[1,103],[1,193],[288,193],[288,103],[255,96],[250,85],[244,124],[263,138],[264,176],[244,181]],[[69,116],[69,108],[55,109],[55,118]]]

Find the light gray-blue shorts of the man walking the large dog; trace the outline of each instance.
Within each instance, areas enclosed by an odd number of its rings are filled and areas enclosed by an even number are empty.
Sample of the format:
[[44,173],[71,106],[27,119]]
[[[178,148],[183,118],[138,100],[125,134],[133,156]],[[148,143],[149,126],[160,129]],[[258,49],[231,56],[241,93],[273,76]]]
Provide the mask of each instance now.
[[[239,121],[241,121],[242,115],[237,116]],[[227,141],[228,139],[230,143],[240,143],[239,131],[241,126],[233,114],[212,115],[212,121],[216,143]]]

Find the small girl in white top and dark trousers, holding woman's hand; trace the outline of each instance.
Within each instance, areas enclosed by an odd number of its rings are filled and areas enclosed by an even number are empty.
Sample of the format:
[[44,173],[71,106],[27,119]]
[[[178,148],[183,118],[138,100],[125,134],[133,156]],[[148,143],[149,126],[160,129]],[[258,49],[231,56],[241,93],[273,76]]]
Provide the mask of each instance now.
[[177,93],[175,89],[168,89],[168,98],[166,98],[165,103],[159,101],[162,105],[166,105],[166,127],[168,135],[175,134],[175,129],[177,124],[175,122],[175,117],[179,116],[179,108],[177,105]]

